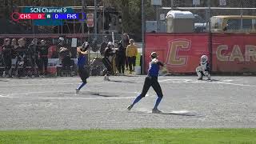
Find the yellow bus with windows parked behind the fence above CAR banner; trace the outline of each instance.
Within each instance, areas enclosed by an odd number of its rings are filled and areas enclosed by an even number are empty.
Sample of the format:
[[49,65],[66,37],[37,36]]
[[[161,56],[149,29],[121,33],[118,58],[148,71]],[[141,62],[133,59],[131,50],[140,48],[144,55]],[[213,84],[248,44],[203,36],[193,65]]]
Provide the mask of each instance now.
[[213,33],[256,33],[256,16],[218,15],[210,18]]

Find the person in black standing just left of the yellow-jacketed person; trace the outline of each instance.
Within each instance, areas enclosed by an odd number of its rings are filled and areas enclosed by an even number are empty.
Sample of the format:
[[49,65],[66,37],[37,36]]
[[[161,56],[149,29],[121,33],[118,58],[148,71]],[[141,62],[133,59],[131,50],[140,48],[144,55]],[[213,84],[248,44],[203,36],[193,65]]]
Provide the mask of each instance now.
[[122,46],[121,42],[118,42],[118,50],[117,50],[117,67],[118,67],[118,72],[120,75],[125,74],[125,62],[126,62],[126,50]]

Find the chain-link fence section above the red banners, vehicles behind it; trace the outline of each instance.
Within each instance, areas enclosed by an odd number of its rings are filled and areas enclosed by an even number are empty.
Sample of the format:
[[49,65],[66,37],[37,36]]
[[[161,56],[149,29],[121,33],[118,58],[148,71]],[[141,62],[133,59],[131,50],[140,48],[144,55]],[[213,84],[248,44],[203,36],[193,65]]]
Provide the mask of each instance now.
[[142,14],[149,33],[256,32],[253,0],[146,0],[144,3]]

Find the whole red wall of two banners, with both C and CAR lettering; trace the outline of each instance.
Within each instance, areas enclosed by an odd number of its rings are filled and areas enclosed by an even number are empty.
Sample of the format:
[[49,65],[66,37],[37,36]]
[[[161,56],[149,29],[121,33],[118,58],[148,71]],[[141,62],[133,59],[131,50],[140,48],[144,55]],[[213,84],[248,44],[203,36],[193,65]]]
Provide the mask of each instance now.
[[[209,34],[146,34],[145,67],[150,53],[170,73],[195,72],[202,54],[210,58]],[[214,72],[256,72],[256,34],[213,34],[212,70]]]

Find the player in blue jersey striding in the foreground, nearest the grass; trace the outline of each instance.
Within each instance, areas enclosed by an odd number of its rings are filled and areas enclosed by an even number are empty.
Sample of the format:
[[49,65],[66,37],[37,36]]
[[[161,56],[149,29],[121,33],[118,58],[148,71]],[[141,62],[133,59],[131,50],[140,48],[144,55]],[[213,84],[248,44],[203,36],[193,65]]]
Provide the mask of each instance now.
[[158,94],[158,98],[155,102],[154,108],[152,109],[152,113],[161,113],[158,110],[158,105],[162,100],[162,89],[158,83],[158,74],[160,70],[160,66],[163,66],[162,62],[158,61],[158,54],[156,52],[151,53],[151,62],[149,64],[148,74],[145,78],[144,86],[142,89],[142,93],[135,98],[134,102],[127,107],[128,110],[132,109],[135,103],[139,102],[143,97],[145,97],[147,91],[150,89],[150,86],[153,87],[154,91]]

